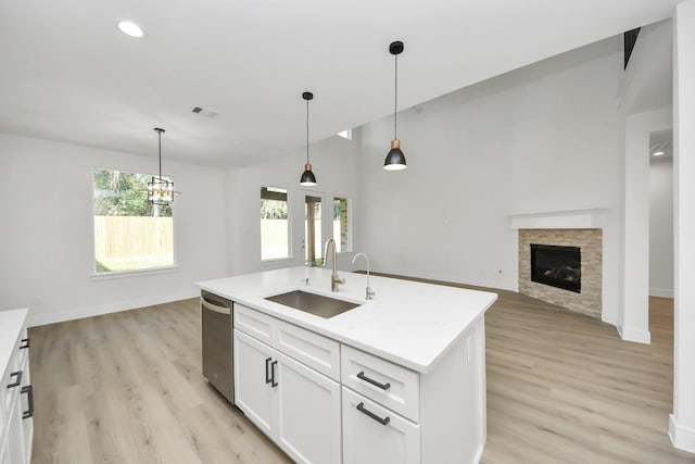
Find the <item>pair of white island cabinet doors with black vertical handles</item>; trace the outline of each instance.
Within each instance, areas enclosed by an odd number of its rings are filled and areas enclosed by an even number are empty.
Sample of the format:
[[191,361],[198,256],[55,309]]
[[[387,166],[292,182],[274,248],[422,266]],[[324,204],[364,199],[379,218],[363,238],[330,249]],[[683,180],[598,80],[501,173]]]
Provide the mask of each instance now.
[[237,406],[295,462],[340,463],[340,384],[237,328],[233,343]]

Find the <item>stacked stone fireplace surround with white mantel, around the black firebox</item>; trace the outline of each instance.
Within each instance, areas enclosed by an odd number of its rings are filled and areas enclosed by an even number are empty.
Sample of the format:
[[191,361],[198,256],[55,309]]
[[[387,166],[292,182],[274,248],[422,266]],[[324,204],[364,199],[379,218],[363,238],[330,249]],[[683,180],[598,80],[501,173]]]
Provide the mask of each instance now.
[[[510,215],[519,234],[519,292],[569,311],[602,318],[604,210],[573,210]],[[531,243],[581,248],[581,293],[531,280]]]

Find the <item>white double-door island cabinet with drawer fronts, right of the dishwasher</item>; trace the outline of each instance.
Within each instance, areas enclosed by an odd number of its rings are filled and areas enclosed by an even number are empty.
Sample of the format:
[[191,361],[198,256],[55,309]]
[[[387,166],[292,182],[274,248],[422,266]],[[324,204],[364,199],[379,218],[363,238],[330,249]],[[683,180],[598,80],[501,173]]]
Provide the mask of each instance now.
[[241,304],[233,311],[237,406],[296,462],[340,463],[339,344]]

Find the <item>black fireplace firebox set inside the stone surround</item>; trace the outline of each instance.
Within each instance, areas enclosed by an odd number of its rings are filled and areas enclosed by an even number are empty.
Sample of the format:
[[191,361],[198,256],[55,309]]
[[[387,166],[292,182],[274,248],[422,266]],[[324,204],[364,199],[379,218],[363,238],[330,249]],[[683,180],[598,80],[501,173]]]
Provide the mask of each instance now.
[[531,280],[582,292],[581,249],[531,243]]

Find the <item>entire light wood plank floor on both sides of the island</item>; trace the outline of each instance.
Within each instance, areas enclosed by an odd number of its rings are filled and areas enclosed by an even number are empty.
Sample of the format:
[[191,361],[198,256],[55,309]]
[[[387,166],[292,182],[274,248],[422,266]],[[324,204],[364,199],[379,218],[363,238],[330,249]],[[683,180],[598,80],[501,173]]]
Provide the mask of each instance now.
[[[671,300],[652,344],[514,292],[486,314],[483,463],[694,463],[667,436]],[[197,300],[35,327],[33,463],[287,463],[201,377]]]

